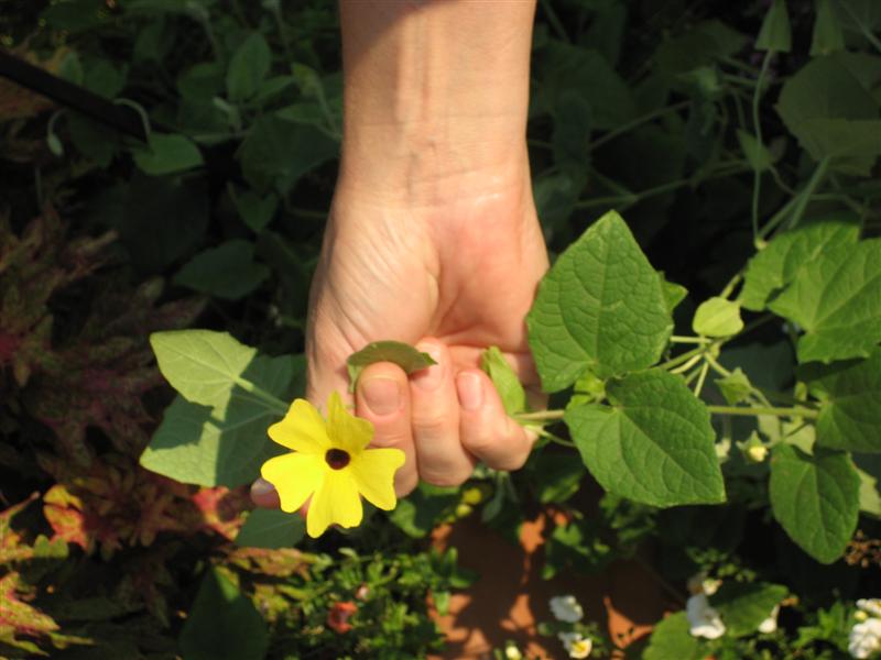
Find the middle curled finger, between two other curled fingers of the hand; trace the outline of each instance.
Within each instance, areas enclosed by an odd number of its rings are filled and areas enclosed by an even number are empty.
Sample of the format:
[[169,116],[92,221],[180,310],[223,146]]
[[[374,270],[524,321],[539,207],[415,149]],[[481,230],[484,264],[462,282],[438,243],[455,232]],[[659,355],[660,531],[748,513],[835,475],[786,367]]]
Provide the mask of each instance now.
[[420,476],[437,486],[455,486],[474,471],[475,460],[459,440],[459,400],[449,350],[436,340],[417,345],[437,364],[410,378],[411,421]]

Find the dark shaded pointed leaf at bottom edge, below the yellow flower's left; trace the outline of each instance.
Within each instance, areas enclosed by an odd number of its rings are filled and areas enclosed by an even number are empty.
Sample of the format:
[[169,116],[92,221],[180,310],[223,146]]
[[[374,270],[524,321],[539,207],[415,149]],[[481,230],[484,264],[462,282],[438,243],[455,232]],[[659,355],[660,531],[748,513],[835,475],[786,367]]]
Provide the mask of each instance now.
[[210,569],[178,641],[185,660],[262,660],[269,649],[269,632],[251,601]]

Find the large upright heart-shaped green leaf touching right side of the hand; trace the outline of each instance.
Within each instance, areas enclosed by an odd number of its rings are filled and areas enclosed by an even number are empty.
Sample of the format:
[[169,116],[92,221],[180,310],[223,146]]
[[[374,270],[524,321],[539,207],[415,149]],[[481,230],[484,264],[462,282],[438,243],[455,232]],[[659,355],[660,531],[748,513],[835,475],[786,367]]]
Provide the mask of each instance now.
[[608,377],[651,366],[673,330],[662,279],[614,211],[561,254],[526,324],[546,392],[588,370]]

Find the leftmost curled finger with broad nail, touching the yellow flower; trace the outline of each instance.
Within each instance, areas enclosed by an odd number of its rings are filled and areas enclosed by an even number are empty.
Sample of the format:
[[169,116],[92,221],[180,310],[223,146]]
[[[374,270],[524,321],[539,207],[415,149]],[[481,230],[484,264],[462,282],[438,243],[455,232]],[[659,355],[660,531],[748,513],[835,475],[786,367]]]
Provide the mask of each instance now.
[[371,364],[358,378],[356,414],[373,424],[372,447],[393,447],[404,452],[404,465],[394,475],[394,491],[402,497],[418,483],[416,450],[410,416],[410,383],[396,364]]

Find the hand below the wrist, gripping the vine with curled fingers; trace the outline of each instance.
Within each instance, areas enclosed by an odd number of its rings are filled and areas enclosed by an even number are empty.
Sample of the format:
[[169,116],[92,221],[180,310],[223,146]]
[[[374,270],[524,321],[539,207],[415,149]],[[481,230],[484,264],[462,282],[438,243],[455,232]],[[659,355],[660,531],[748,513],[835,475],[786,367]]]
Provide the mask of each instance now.
[[[477,460],[520,468],[534,440],[479,369],[482,350],[498,345],[537,393],[524,318],[547,256],[527,166],[466,189],[417,208],[338,193],[313,283],[306,351],[315,405],[347,392],[346,359],[371,341],[412,343],[438,363],[410,378],[378,363],[358,381],[356,413],[373,424],[373,446],[406,454],[399,495],[420,477],[460,484]],[[263,505],[274,497],[255,493]]]

